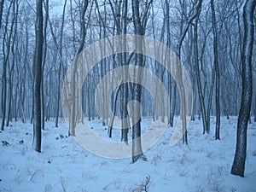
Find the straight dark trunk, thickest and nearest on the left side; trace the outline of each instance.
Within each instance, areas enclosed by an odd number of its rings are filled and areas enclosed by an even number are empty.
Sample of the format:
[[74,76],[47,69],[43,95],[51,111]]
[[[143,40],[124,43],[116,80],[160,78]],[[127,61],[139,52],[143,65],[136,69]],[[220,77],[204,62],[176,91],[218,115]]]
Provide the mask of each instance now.
[[43,0],[37,0],[37,20],[36,20],[36,46],[34,60],[34,121],[33,121],[33,148],[41,152],[41,75],[43,59]]

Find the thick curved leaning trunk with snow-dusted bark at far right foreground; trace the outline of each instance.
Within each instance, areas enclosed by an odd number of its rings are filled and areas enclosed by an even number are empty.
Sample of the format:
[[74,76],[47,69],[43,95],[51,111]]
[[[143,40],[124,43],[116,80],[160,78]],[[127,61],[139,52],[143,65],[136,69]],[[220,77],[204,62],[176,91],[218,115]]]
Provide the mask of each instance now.
[[244,40],[241,52],[242,90],[241,107],[237,122],[236,154],[231,174],[244,177],[245,160],[247,155],[247,124],[250,117],[253,97],[253,12],[256,0],[247,0],[243,7]]

